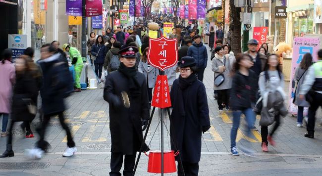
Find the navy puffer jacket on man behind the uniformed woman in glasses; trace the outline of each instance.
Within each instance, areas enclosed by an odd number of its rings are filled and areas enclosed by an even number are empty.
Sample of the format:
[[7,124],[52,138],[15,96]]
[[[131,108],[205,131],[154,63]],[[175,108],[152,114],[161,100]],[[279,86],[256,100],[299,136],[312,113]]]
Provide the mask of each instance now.
[[198,68],[206,68],[208,61],[208,52],[206,46],[201,42],[200,44],[192,43],[188,48],[187,56],[195,58]]

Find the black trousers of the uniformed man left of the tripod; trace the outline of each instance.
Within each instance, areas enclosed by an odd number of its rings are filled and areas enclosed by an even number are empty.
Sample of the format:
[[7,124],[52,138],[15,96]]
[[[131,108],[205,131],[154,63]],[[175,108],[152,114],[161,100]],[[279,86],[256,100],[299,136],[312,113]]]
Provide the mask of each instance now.
[[111,153],[110,156],[110,173],[109,176],[121,176],[120,170],[123,165],[123,156],[124,157],[124,170],[123,176],[132,176],[134,166],[135,166],[135,157],[134,155],[123,155],[122,153]]

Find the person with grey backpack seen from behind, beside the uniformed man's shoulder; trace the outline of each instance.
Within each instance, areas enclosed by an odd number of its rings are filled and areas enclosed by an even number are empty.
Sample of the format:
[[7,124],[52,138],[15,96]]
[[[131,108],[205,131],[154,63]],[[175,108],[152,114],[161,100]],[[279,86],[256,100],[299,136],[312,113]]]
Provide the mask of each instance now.
[[118,51],[121,48],[120,42],[115,42],[111,49],[107,52],[104,61],[104,69],[107,70],[107,73],[115,71],[120,65]]

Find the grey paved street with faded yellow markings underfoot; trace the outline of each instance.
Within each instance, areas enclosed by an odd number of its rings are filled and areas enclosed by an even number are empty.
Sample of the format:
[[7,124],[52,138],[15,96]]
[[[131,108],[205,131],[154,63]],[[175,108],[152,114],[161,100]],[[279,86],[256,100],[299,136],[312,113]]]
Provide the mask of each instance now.
[[[210,52],[209,52],[210,58]],[[89,67],[90,77],[94,78]],[[230,151],[230,130],[232,125],[231,111],[218,113],[217,101],[213,98],[214,73],[211,61],[205,71],[204,83],[208,94],[212,128],[203,134],[202,159],[200,175],[202,176],[258,176],[258,175],[322,175],[322,128],[317,124],[315,139],[304,137],[305,128],[296,127],[296,118],[285,117],[276,132],[277,146],[268,146],[269,153],[261,152],[261,134],[252,132],[251,138],[243,134],[243,122],[237,137],[237,147],[251,141],[256,157],[245,155],[232,156]],[[288,82],[285,84],[288,87]],[[286,88],[285,88],[286,89]],[[287,90],[287,89],[286,89]],[[15,157],[0,159],[0,175],[25,176],[33,175],[107,175],[110,160],[110,132],[108,103],[103,99],[103,89],[84,90],[67,98],[69,109],[65,112],[66,121],[74,134],[78,152],[71,158],[63,158],[66,148],[66,135],[58,119],[53,118],[47,132],[47,140],[52,148],[41,160],[27,160],[23,156],[25,148],[32,148],[38,137],[24,138],[23,132],[16,126],[13,136]],[[321,114],[321,113],[320,113]],[[258,126],[257,119],[256,126]],[[147,144],[153,150],[161,149],[161,129],[159,110],[153,117]],[[1,123],[1,122],[0,122]],[[169,149],[169,120],[165,118],[164,148]],[[36,118],[32,129],[40,125]],[[0,152],[5,150],[6,138],[0,137]],[[147,174],[148,157],[141,156],[138,176]]]

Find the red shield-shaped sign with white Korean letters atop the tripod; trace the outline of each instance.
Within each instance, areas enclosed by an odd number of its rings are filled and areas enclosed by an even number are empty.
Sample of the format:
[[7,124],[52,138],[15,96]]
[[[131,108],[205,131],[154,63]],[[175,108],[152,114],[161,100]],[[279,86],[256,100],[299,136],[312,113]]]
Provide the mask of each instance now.
[[164,71],[177,64],[177,39],[167,39],[164,36],[159,39],[150,38],[149,44],[148,61],[152,66]]

